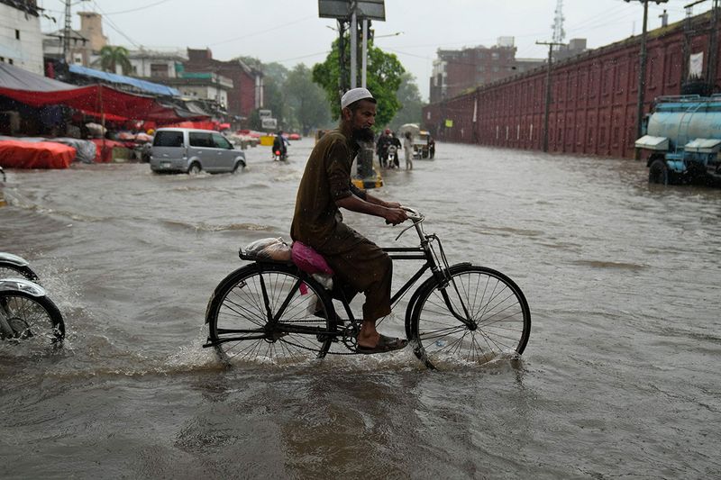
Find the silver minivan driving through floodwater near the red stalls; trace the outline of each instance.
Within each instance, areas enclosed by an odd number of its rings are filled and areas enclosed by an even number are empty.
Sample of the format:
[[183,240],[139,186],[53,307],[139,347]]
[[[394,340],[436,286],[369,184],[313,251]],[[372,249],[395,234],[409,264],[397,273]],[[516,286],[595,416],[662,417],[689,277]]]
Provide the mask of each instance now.
[[245,168],[245,154],[217,131],[162,128],[151,147],[154,172],[234,172]]

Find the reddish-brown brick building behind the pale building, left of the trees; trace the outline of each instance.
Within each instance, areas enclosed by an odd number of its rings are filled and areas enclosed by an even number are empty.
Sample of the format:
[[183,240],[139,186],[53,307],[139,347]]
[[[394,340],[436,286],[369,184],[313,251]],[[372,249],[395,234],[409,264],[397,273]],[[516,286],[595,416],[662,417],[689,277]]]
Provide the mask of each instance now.
[[263,106],[263,74],[241,60],[222,61],[213,58],[210,49],[187,49],[186,72],[211,72],[233,82],[228,92],[228,113],[236,117],[249,117]]

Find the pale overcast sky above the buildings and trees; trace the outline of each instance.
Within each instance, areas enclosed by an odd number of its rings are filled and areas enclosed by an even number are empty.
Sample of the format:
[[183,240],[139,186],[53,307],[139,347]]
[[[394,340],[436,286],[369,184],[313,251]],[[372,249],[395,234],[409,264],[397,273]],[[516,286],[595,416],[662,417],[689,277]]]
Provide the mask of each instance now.
[[[692,0],[649,4],[649,30],[685,16]],[[43,31],[63,25],[65,0],[38,0],[57,23],[42,21]],[[386,0],[386,21],[373,22],[376,45],[397,55],[415,76],[424,100],[436,50],[493,46],[501,36],[515,37],[517,58],[546,57],[558,0]],[[563,0],[565,41],[588,39],[589,48],[640,34],[643,5],[638,0]],[[707,12],[712,0],[693,7]],[[318,17],[317,0],[72,0],[73,27],[80,11],[103,14],[103,31],[113,45],[129,49],[213,51],[215,59],[256,57],[287,68],[308,67],[325,59],[336,32],[331,19]],[[397,34],[399,33],[399,34]],[[388,35],[388,36],[386,36]]]

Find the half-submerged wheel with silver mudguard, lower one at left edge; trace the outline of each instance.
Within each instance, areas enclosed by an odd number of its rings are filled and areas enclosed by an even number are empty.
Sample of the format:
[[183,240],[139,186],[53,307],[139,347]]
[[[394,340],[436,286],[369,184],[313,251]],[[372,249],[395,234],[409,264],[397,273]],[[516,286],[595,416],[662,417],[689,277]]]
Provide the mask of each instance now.
[[64,338],[62,314],[50,298],[23,291],[0,293],[0,339],[55,344]]

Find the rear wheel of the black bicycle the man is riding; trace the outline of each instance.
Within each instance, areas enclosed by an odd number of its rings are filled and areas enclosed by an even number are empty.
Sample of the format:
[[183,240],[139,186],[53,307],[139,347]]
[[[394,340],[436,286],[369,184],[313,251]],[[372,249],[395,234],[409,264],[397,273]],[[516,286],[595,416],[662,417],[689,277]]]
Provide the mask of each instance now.
[[208,303],[208,343],[224,361],[323,358],[331,347],[331,301],[296,267],[251,264],[225,277]]

